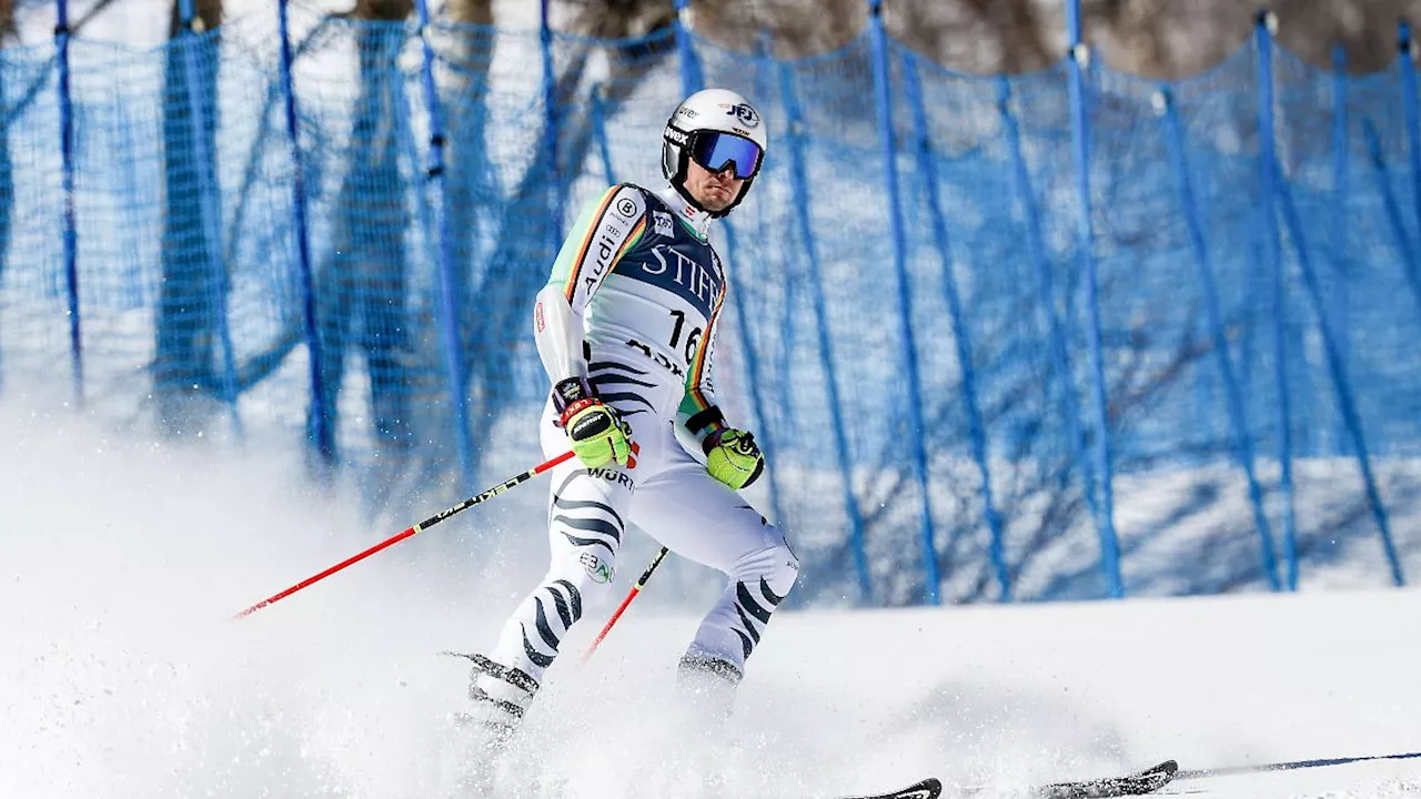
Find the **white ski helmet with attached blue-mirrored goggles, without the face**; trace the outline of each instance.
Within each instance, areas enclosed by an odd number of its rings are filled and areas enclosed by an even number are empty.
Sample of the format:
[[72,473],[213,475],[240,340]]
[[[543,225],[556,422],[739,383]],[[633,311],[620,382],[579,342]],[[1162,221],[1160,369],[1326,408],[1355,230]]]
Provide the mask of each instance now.
[[[685,98],[671,119],[661,144],[661,173],[692,206],[710,216],[725,216],[740,205],[750,191],[750,182],[764,161],[767,135],[759,111],[739,94],[725,88],[701,90]],[[686,168],[695,158],[706,169],[719,171],[735,163],[737,178],[745,183],[740,193],[722,210],[703,208],[686,191]]]

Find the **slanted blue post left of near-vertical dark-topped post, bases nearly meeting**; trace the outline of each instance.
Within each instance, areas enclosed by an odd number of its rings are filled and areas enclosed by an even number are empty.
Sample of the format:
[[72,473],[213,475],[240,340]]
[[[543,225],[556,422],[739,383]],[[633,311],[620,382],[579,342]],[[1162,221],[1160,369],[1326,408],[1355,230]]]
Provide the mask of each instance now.
[[[1276,591],[1277,566],[1273,563],[1273,535],[1269,530],[1268,513],[1263,510],[1263,489],[1253,471],[1253,438],[1248,429],[1248,415],[1243,409],[1243,392],[1233,375],[1233,358],[1229,357],[1229,338],[1223,327],[1223,313],[1219,310],[1219,291],[1214,280],[1214,266],[1209,263],[1209,250],[1204,242],[1204,223],[1199,219],[1199,203],[1194,193],[1194,181],[1189,176],[1189,159],[1184,152],[1184,134],[1179,129],[1179,115],[1174,107],[1169,88],[1160,87],[1158,109],[1164,121],[1165,145],[1169,149],[1169,161],[1174,166],[1175,181],[1179,188],[1179,206],[1184,209],[1185,229],[1189,233],[1189,247],[1194,250],[1194,263],[1199,274],[1199,290],[1204,293],[1204,307],[1208,313],[1209,336],[1214,338],[1214,357],[1219,365],[1219,377],[1223,380],[1223,391],[1228,397],[1229,425],[1233,428],[1233,455],[1239,468],[1248,479],[1248,496],[1253,505],[1253,529],[1259,535],[1263,550],[1263,567],[1268,570],[1269,584]],[[1290,589],[1297,587],[1297,570],[1289,570]]]

